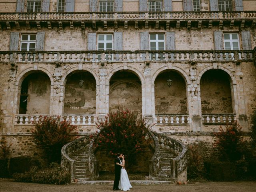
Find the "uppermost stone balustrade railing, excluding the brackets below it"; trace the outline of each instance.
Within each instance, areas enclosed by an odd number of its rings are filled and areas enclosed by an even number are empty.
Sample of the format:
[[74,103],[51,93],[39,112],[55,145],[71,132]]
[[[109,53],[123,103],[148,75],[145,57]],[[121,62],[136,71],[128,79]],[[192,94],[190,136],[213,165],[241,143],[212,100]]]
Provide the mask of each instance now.
[[0,13],[0,21],[80,21],[80,20],[235,20],[255,19],[256,11],[225,12],[41,12]]

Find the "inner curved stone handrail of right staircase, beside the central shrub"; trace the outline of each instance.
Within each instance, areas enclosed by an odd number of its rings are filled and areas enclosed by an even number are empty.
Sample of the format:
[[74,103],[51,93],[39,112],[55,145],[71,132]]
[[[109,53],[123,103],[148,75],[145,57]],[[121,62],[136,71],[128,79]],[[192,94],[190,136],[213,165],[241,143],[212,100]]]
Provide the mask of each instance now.
[[152,178],[154,176],[156,176],[156,174],[158,173],[159,170],[159,142],[158,142],[158,138],[150,131],[148,130],[148,134],[151,138],[153,138],[154,141],[154,147],[155,147],[155,151],[154,154],[152,156],[152,158],[149,160],[149,177]]

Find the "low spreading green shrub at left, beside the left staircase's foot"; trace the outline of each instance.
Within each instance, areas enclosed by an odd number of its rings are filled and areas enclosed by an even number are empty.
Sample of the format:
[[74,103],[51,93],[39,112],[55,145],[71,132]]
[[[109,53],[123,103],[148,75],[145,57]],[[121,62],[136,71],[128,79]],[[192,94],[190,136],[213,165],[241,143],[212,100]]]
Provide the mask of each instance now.
[[17,182],[32,182],[41,184],[68,184],[70,173],[57,163],[51,163],[48,168],[38,169],[33,166],[28,172],[13,174]]

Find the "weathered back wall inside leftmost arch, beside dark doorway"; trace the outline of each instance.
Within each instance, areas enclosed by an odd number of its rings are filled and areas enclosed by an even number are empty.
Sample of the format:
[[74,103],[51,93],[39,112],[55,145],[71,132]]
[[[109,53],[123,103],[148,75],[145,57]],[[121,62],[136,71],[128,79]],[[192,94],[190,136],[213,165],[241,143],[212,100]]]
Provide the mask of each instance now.
[[[50,78],[44,73],[30,74],[24,82],[27,82],[26,94],[21,94],[20,102],[27,102],[26,114],[49,114],[50,110]],[[23,84],[22,84],[23,85]]]

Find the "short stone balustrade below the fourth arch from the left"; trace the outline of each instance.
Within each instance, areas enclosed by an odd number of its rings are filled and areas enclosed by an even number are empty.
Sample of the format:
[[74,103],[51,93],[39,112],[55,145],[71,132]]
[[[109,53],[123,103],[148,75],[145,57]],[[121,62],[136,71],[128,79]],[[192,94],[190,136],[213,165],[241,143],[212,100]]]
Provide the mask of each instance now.
[[190,118],[188,114],[156,114],[155,115],[156,124],[189,124]]

